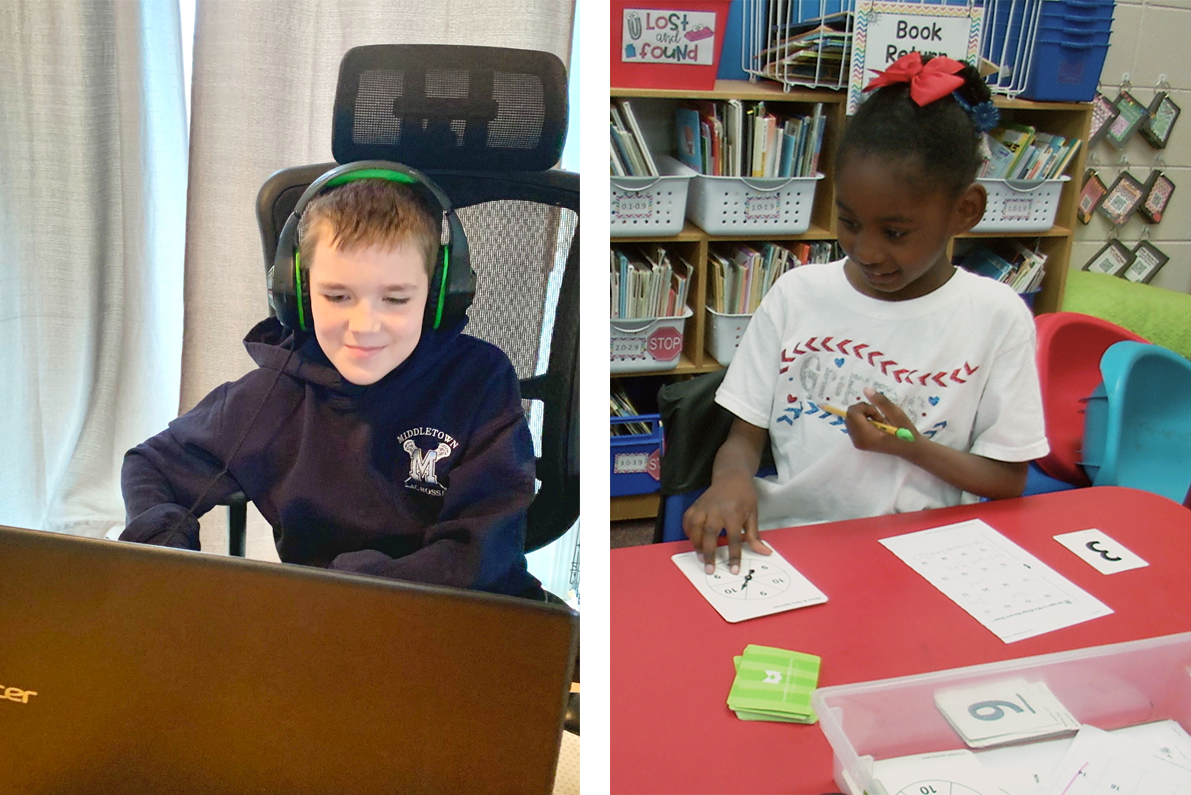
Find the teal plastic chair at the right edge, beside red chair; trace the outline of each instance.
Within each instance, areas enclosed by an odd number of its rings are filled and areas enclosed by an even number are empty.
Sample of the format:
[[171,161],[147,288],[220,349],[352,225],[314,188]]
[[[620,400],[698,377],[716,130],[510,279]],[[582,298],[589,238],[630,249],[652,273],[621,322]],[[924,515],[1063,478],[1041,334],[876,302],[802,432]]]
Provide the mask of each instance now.
[[1181,502],[1191,484],[1191,362],[1135,342],[1109,346],[1087,399],[1083,465],[1093,486]]

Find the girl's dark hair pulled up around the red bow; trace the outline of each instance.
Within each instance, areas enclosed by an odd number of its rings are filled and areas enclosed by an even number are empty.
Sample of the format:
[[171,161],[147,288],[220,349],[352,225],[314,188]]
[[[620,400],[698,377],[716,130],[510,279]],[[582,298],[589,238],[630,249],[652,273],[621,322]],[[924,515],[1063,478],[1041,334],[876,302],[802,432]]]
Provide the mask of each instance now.
[[[930,57],[922,60],[929,63]],[[987,102],[992,94],[974,67],[958,73],[955,90],[967,106]],[[853,152],[888,159],[912,158],[933,184],[959,195],[980,169],[980,132],[969,112],[948,94],[925,106],[910,99],[909,83],[878,88],[861,104],[843,130],[836,150],[836,171]]]

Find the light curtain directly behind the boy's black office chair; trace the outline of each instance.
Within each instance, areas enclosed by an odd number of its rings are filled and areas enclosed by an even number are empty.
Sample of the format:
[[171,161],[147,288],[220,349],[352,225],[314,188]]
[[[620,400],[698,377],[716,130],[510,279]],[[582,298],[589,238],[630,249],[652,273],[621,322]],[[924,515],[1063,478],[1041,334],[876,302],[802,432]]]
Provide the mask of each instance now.
[[[278,169],[333,159],[343,54],[362,44],[484,44],[568,63],[573,11],[570,0],[198,4],[181,411],[255,367],[241,340],[268,313],[256,193]],[[213,511],[204,549],[226,549],[225,533],[224,512]],[[272,531],[251,507],[248,555],[276,559]]]

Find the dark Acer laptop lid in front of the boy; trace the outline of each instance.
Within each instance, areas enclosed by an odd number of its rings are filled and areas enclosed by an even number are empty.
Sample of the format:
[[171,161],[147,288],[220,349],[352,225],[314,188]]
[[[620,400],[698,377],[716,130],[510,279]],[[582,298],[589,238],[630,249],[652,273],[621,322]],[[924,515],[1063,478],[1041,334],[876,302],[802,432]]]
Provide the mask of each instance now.
[[0,527],[0,790],[550,793],[561,606]]

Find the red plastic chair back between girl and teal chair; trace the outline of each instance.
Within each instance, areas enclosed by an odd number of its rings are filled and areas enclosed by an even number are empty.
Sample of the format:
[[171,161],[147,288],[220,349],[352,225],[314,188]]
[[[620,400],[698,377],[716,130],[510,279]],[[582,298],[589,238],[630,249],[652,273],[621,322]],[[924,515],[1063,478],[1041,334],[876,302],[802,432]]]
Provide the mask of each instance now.
[[1127,328],[1078,312],[1052,312],[1035,319],[1037,368],[1050,452],[1037,465],[1050,477],[1090,486],[1080,467],[1084,399],[1100,382],[1100,357],[1109,345],[1146,342]]

